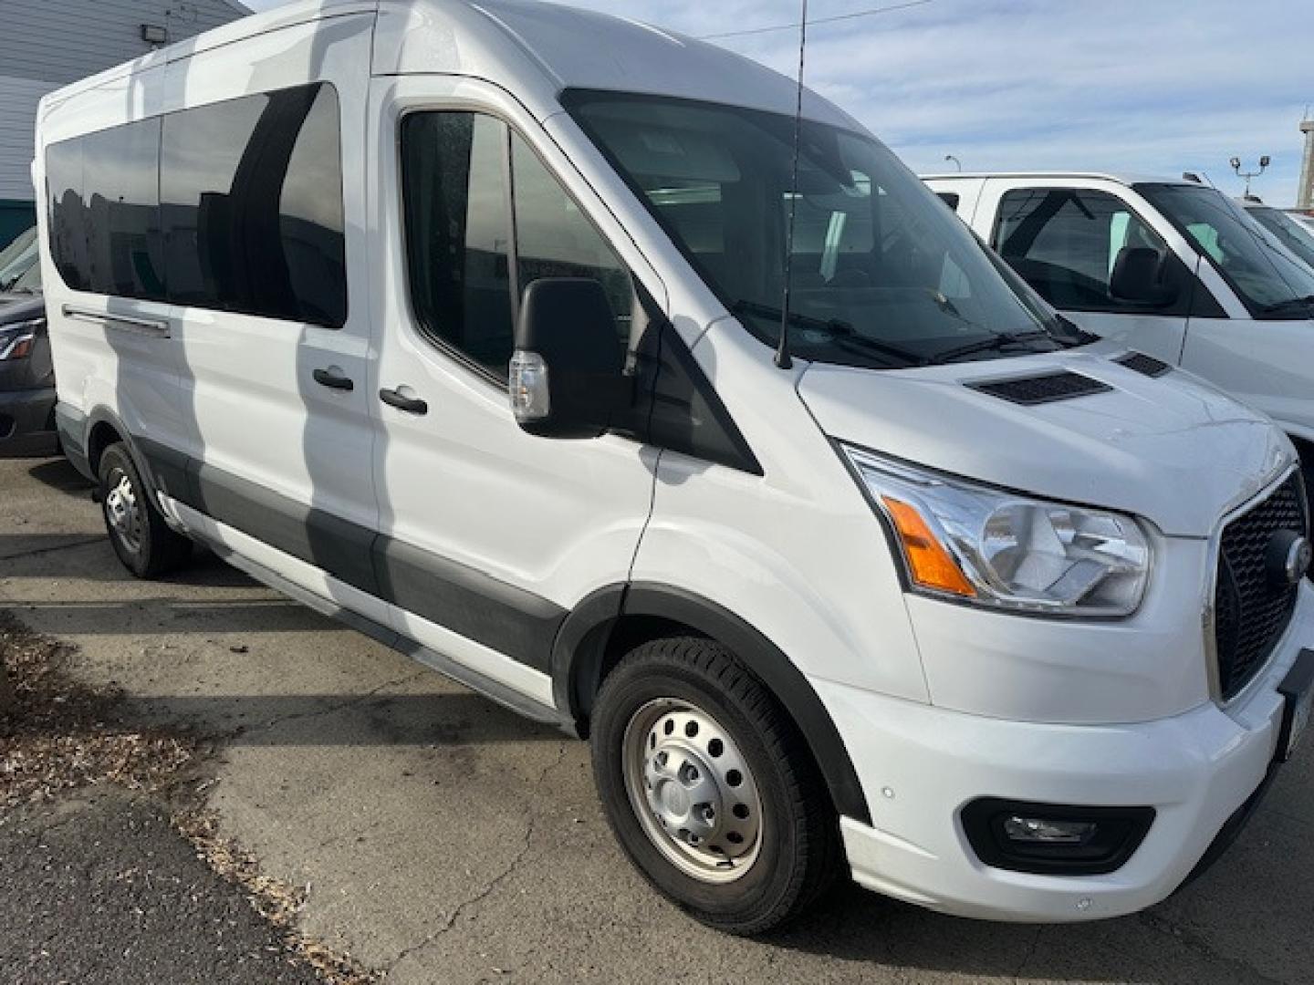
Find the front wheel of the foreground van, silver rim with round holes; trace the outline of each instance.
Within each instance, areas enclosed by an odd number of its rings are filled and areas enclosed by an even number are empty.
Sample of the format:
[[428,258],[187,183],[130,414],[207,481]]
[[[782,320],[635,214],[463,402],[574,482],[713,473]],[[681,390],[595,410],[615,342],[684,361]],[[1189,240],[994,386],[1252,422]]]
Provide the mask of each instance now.
[[593,760],[640,872],[699,921],[761,934],[838,871],[838,822],[798,728],[725,647],[640,646],[603,684]]

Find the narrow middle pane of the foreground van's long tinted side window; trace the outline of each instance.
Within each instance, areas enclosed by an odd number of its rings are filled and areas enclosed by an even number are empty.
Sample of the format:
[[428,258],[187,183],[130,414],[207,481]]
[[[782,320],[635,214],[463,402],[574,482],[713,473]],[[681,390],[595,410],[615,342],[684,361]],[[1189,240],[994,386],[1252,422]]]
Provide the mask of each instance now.
[[81,138],[87,290],[164,299],[156,179],[160,121],[143,120]]

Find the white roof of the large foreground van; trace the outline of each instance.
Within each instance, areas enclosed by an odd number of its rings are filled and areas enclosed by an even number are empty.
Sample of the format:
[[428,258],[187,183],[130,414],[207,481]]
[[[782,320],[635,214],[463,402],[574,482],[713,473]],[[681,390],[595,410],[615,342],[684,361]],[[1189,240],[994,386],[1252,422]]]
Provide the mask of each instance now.
[[[45,109],[164,62],[298,24],[374,13],[374,75],[451,74],[510,80],[541,117],[562,89],[607,89],[794,113],[794,80],[723,47],[606,13],[541,0],[300,0],[152,51],[51,93]],[[804,116],[862,129],[808,92]]]

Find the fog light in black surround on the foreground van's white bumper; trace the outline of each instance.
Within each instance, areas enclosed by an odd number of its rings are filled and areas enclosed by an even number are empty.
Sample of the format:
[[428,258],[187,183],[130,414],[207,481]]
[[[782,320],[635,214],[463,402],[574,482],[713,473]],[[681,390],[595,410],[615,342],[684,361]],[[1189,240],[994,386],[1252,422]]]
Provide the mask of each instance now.
[[1116,872],[1141,847],[1154,808],[1028,804],[982,797],[963,808],[963,834],[992,868],[1051,876]]

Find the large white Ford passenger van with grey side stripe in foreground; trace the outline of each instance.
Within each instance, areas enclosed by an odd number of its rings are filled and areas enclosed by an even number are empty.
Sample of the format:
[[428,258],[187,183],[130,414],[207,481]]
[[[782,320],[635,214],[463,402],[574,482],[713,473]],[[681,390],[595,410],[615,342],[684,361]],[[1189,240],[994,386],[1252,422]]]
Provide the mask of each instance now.
[[64,447],[134,573],[201,541],[586,734],[714,926],[837,871],[1163,900],[1309,718],[1292,444],[1058,318],[815,96],[795,183],[794,101],[512,0],[280,8],[60,89]]

